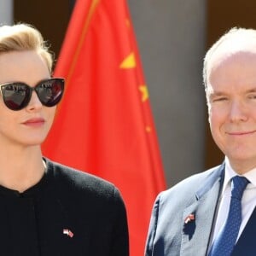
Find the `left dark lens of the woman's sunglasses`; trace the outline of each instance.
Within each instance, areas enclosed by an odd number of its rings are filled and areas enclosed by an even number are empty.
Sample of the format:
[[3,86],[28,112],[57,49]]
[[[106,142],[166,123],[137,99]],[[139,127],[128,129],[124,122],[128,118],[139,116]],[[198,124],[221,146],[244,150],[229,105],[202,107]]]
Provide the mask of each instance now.
[[30,88],[26,84],[6,84],[1,89],[3,101],[9,109],[20,110],[29,101]]

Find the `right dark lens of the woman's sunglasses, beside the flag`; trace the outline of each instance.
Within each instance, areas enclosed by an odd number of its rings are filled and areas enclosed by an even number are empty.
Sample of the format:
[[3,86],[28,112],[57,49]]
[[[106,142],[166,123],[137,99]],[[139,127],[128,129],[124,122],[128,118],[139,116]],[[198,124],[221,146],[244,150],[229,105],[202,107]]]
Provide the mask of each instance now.
[[38,84],[36,91],[40,102],[46,107],[53,107],[61,101],[64,79],[49,79]]

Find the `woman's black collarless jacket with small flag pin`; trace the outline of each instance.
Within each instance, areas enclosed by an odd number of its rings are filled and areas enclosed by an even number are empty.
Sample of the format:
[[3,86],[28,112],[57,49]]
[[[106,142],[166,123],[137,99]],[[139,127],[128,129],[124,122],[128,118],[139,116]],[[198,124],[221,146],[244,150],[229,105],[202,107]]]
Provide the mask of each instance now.
[[24,193],[0,188],[0,254],[128,256],[125,206],[113,184],[50,160]]

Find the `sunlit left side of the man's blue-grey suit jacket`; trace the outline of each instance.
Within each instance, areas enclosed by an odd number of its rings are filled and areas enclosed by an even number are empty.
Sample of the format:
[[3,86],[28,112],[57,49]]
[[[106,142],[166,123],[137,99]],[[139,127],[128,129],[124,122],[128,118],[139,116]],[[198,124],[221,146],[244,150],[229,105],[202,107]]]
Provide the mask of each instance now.
[[223,178],[224,166],[218,166],[160,193],[149,225],[147,256],[206,255]]

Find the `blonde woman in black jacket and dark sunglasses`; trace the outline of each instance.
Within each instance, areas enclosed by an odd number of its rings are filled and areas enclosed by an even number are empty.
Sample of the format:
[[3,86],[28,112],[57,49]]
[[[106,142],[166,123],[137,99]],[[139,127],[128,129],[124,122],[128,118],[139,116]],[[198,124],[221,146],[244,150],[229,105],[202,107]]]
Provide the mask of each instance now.
[[65,84],[52,63],[37,29],[0,27],[1,255],[128,255],[119,190],[42,156]]

